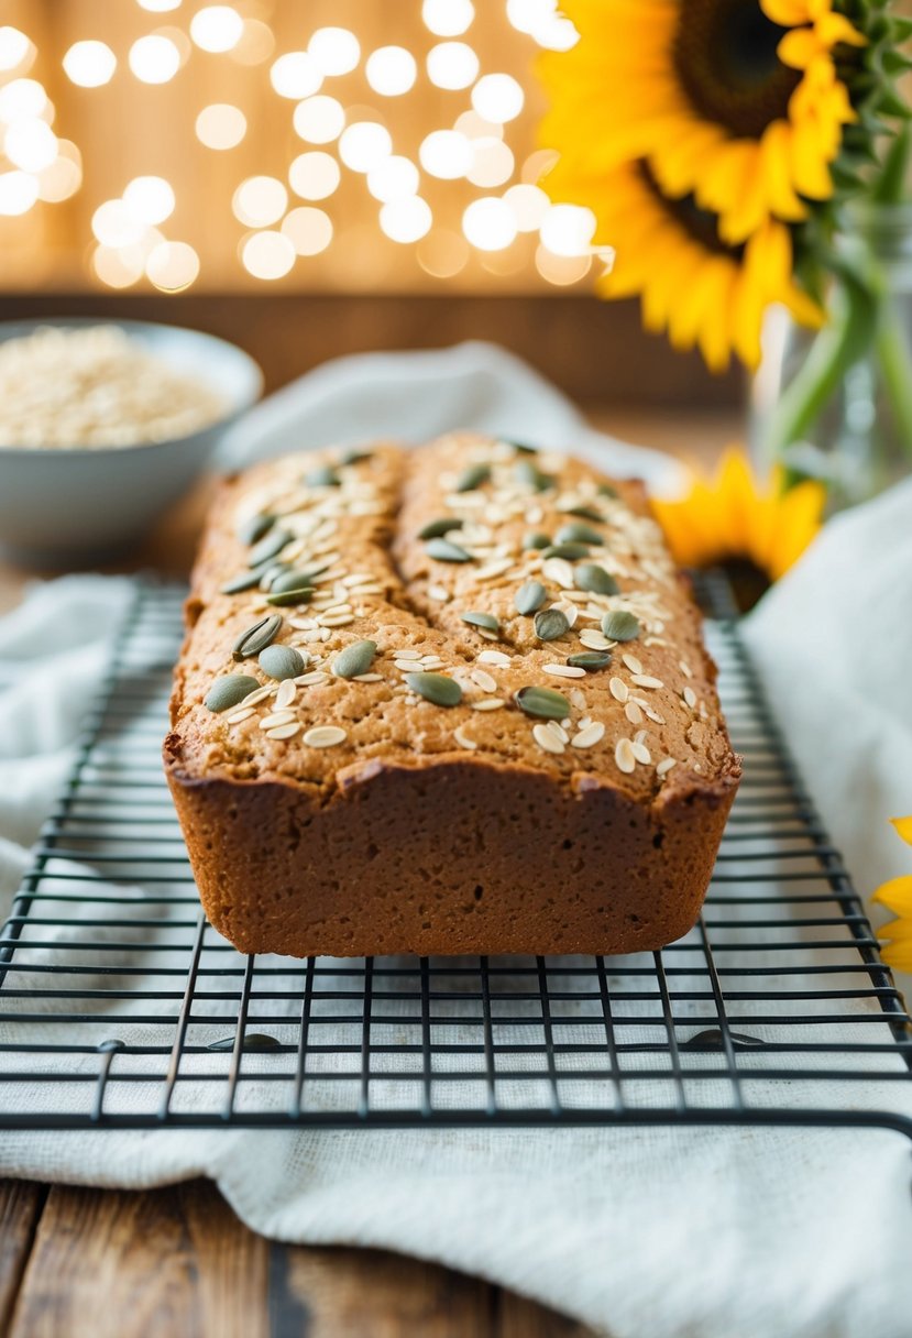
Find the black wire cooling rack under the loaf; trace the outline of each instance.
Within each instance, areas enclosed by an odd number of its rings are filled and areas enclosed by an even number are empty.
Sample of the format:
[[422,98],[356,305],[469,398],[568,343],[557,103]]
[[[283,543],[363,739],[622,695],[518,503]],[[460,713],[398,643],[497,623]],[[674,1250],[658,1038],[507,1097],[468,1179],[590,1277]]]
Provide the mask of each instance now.
[[745,779],[697,927],[622,958],[242,957],[159,745],[175,587],[138,582],[0,939],[0,1128],[793,1124],[912,1136],[912,1028],[702,583]]

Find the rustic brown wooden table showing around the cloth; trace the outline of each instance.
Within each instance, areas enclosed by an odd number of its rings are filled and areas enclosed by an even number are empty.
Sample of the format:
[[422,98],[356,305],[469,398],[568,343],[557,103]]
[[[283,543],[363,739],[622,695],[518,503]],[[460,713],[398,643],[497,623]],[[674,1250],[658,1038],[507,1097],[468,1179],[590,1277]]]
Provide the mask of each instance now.
[[[592,420],[701,460],[737,435],[730,413],[599,411]],[[186,574],[211,490],[211,480],[202,480],[130,562],[111,570]],[[33,575],[0,563],[0,609],[17,603]],[[501,1287],[436,1264],[265,1240],[206,1181],[146,1192],[0,1181],[0,1338],[588,1334]]]

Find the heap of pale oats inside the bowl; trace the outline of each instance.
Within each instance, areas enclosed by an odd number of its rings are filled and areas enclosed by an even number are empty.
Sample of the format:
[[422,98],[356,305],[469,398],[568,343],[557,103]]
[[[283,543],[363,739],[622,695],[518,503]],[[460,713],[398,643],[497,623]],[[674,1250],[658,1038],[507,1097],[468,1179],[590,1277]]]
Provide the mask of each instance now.
[[116,325],[44,325],[0,344],[0,444],[140,446],[189,436],[226,412],[223,396]]

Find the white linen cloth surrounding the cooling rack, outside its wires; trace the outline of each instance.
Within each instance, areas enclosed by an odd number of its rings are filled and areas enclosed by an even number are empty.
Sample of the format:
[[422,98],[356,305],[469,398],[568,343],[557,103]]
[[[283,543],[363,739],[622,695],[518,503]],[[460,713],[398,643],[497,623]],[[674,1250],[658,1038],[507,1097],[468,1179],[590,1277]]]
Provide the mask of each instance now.
[[[567,446],[580,431],[551,387],[475,345],[320,369],[258,409],[226,459],[457,424]],[[649,468],[646,454],[603,450],[607,467],[626,455]],[[908,868],[887,819],[912,812],[911,504],[912,483],[832,524],[748,633],[863,892]],[[36,585],[0,624],[0,917],[128,594],[118,578]],[[877,1088],[859,1100],[912,1113],[908,1088]],[[122,1187],[207,1175],[266,1235],[437,1259],[611,1338],[903,1338],[912,1325],[909,1149],[895,1132],[15,1132],[0,1133],[0,1175]]]

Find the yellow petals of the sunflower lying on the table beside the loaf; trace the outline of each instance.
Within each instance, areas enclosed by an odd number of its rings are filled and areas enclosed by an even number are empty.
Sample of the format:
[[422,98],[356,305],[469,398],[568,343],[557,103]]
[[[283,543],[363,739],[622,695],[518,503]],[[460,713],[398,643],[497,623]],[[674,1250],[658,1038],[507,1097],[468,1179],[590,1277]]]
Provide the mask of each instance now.
[[[814,538],[825,500],[826,491],[816,480],[782,491],[778,471],[761,486],[745,454],[730,447],[714,478],[695,474],[686,496],[657,499],[653,506],[681,566],[730,566],[742,578],[753,573],[769,585]],[[746,583],[758,593],[757,579]]]

